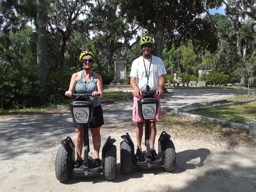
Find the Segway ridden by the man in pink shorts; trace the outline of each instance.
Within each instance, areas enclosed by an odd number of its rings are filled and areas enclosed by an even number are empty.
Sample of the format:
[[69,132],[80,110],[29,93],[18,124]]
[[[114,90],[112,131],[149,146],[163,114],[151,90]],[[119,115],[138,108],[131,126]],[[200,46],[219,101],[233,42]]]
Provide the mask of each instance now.
[[121,173],[128,174],[132,170],[132,165],[137,168],[163,167],[166,171],[172,171],[176,165],[176,153],[171,136],[163,131],[158,139],[159,159],[152,159],[150,154],[149,127],[150,120],[153,120],[158,112],[159,102],[154,97],[155,91],[142,91],[144,95],[138,100],[139,117],[145,120],[145,146],[142,160],[137,160],[134,154],[134,144],[128,133],[122,135],[124,140],[120,144]]

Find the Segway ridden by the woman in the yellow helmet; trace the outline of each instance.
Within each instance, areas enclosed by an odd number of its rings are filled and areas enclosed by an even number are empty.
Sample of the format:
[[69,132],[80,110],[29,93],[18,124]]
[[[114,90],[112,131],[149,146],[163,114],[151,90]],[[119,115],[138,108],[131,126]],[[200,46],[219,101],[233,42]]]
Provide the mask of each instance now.
[[117,177],[117,147],[113,145],[116,141],[107,138],[104,146],[102,147],[102,163],[99,167],[93,167],[94,159],[88,155],[89,148],[89,133],[87,123],[91,122],[93,117],[93,105],[87,101],[92,94],[72,94],[77,96],[70,104],[70,110],[73,120],[77,124],[83,124],[83,142],[84,142],[84,162],[75,168],[75,145],[70,137],[61,141],[61,147],[58,150],[55,162],[56,178],[65,182],[71,178],[72,173],[77,176],[92,176],[92,175],[105,175],[108,180]]

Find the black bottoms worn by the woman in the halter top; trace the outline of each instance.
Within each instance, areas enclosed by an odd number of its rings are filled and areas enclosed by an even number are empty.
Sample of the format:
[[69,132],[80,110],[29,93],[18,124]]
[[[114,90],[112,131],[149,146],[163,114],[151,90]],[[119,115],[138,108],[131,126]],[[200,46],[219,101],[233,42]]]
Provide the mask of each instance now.
[[[102,113],[101,105],[93,107],[93,118],[91,119],[90,123],[87,123],[88,129],[100,127],[103,124],[104,124],[104,121],[103,121],[103,113]],[[73,127],[77,129],[83,129],[83,124],[77,124],[73,120]]]

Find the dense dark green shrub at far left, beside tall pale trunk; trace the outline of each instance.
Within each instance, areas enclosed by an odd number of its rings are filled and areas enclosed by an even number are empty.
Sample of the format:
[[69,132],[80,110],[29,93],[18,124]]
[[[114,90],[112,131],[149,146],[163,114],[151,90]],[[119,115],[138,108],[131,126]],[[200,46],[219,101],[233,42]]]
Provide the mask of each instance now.
[[37,66],[17,69],[10,63],[0,61],[0,88],[4,108],[22,108],[41,103]]

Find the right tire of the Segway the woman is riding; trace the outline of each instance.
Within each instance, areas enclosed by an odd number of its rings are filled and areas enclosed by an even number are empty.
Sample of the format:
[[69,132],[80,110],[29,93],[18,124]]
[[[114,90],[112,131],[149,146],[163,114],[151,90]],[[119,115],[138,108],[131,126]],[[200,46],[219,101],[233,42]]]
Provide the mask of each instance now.
[[105,152],[104,175],[108,180],[117,177],[117,147],[115,145],[111,145]]

